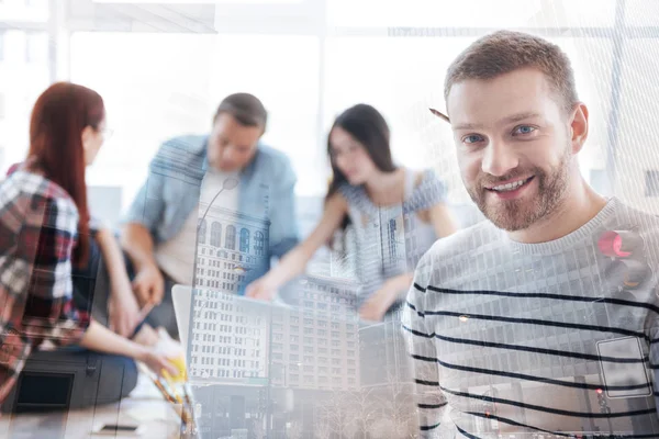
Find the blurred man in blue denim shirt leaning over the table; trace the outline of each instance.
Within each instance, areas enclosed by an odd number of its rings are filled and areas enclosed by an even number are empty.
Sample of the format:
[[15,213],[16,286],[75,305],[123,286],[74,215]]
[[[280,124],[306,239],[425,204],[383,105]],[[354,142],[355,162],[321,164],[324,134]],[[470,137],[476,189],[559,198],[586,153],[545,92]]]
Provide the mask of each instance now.
[[[214,255],[226,254],[224,249],[241,252],[232,255],[235,264],[209,262],[213,270],[204,272],[212,278],[196,281],[219,291],[243,294],[249,280],[270,268],[271,257],[280,258],[298,244],[297,178],[286,155],[260,143],[266,123],[267,112],[257,98],[232,94],[220,104],[210,135],[169,139],[152,160],[122,230],[135,293],[143,306],[159,305],[147,318],[152,325],[177,333],[170,290],[174,283],[190,285],[194,281],[198,224],[200,241],[208,244],[208,235],[212,236]],[[200,223],[209,205],[212,209]],[[214,214],[225,219],[214,221]],[[226,215],[236,218],[236,224],[227,225]],[[252,246],[245,222],[261,227],[256,233],[252,227]],[[210,259],[201,258],[204,262]],[[243,260],[258,263],[245,271]],[[228,264],[232,268],[227,270]],[[238,284],[225,282],[236,278]]]

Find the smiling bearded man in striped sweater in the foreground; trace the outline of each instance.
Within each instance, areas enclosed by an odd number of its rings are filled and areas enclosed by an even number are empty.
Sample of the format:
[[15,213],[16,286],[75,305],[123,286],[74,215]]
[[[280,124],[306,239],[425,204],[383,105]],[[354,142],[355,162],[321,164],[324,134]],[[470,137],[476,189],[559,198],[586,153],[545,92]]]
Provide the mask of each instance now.
[[436,243],[409,293],[422,436],[658,436],[659,221],[581,176],[569,59],[496,32],[451,64],[445,99],[488,221]]

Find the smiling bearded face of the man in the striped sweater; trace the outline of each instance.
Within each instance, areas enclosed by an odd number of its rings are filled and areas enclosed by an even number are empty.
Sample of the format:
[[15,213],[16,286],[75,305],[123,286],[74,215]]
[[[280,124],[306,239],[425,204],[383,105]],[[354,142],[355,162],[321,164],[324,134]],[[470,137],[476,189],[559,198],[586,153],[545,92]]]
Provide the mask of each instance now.
[[462,181],[496,227],[522,230],[560,206],[578,150],[545,75],[520,69],[454,85],[448,97]]

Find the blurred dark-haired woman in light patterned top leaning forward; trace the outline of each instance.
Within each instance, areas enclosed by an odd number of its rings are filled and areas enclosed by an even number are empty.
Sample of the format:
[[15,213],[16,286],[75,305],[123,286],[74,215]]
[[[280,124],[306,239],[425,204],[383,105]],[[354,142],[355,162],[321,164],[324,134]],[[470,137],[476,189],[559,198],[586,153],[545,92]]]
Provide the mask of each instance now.
[[[330,132],[327,154],[334,178],[325,211],[313,233],[281,263],[247,288],[247,295],[270,300],[277,289],[302,273],[313,254],[338,229],[356,232],[357,270],[364,293],[360,315],[380,320],[407,291],[412,281],[407,259],[423,255],[438,237],[457,226],[445,204],[444,184],[431,170],[414,172],[391,158],[389,126],[372,106],[358,104],[340,114]],[[398,248],[403,218],[414,224],[415,249]],[[389,236],[384,241],[383,236]],[[402,258],[403,257],[403,258]]]

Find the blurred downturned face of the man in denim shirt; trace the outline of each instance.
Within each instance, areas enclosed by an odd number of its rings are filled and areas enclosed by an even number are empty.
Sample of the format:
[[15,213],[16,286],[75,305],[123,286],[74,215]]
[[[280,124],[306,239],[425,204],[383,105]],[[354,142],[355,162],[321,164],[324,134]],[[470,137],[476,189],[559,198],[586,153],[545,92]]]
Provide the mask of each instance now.
[[209,164],[222,171],[241,170],[254,158],[264,128],[242,125],[234,116],[221,113],[209,138]]

